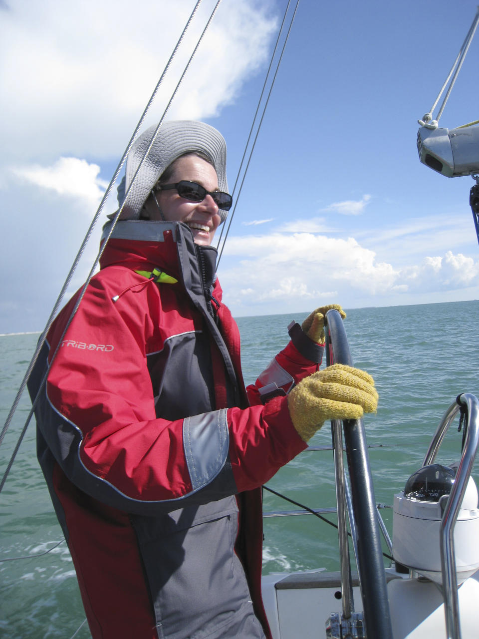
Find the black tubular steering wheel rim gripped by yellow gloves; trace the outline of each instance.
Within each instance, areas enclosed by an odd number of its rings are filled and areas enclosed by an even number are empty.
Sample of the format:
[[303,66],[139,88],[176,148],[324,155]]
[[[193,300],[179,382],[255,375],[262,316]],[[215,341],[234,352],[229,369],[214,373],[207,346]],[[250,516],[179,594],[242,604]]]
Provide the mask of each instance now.
[[[326,313],[326,363],[353,366],[346,330],[338,311]],[[354,521],[358,536],[364,624],[369,639],[392,639],[393,631],[386,589],[376,499],[362,419],[343,420],[346,458],[351,484]]]

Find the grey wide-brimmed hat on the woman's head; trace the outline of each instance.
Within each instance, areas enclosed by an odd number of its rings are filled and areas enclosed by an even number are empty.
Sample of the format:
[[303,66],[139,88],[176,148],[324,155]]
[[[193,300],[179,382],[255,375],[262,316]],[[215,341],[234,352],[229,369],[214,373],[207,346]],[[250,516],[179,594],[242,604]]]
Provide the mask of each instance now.
[[[121,206],[125,199],[125,192],[132,183],[141,159],[148,148],[156,125],[149,127],[142,133],[132,146],[126,158],[125,177],[118,187],[118,204]],[[215,167],[218,176],[218,187],[228,192],[226,180],[226,142],[215,128],[204,122],[194,120],[175,120],[163,122],[158,130],[155,142],[139,170],[133,187],[126,197],[125,206],[121,212],[121,220],[137,220],[151,189],[155,186],[163,171],[180,155],[191,151],[205,153]],[[224,222],[227,211],[220,209],[221,221]]]

